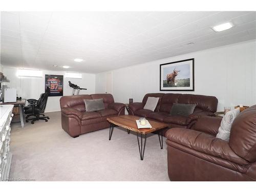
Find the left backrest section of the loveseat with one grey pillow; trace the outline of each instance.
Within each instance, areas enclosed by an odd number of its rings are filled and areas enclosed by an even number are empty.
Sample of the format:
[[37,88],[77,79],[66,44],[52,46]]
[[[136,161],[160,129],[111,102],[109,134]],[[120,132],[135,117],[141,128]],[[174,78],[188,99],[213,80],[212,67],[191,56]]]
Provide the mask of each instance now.
[[60,108],[75,108],[81,112],[86,110],[86,105],[83,99],[92,99],[91,95],[72,95],[63,96],[59,99]]

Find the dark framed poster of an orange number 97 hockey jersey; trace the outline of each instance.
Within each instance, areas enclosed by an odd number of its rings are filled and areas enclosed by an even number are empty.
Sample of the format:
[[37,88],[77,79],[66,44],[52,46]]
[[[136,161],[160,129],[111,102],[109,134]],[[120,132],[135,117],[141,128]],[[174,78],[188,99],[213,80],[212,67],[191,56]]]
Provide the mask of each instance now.
[[49,97],[63,96],[63,75],[48,75],[45,78],[45,91],[50,88]]

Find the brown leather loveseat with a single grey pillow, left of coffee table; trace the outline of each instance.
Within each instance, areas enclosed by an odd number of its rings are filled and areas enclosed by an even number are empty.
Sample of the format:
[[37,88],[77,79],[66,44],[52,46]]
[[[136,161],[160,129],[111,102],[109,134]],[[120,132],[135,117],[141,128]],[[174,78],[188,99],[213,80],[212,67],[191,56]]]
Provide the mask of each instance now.
[[[104,110],[87,112],[83,99],[103,98]],[[63,96],[60,98],[61,125],[71,137],[110,126],[108,117],[124,115],[124,104],[115,103],[111,94]]]

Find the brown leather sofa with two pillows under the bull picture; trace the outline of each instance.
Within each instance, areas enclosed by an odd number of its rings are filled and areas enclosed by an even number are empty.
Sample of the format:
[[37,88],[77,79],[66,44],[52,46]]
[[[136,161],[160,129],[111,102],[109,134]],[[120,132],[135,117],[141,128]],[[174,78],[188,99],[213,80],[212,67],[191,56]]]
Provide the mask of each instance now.
[[[148,97],[159,97],[157,107],[154,112],[145,110],[144,105]],[[169,116],[173,103],[197,104],[193,114],[185,116]],[[168,123],[171,127],[189,128],[196,119],[201,116],[214,116],[217,110],[218,99],[214,96],[193,95],[193,94],[174,94],[174,93],[148,93],[144,96],[142,102],[134,102],[129,104],[129,114],[148,119],[157,120]],[[163,131],[165,135],[166,131]]]

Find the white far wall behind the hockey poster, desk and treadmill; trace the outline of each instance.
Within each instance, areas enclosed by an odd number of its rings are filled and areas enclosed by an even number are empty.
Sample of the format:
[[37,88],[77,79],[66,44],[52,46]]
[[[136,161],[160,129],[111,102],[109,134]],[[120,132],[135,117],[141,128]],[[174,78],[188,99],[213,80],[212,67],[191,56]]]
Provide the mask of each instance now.
[[[18,96],[26,99],[38,99],[40,94],[45,92],[45,74],[65,75],[63,71],[42,70],[42,72],[43,77],[18,77],[17,69],[3,67],[3,73],[10,80],[5,84],[10,88],[16,88]],[[69,80],[81,88],[87,88],[87,90],[81,90],[80,94],[95,93],[95,74],[82,73],[82,79],[65,78],[64,76],[63,95],[72,94]],[[46,112],[60,111],[59,99],[60,97],[48,97]]]

